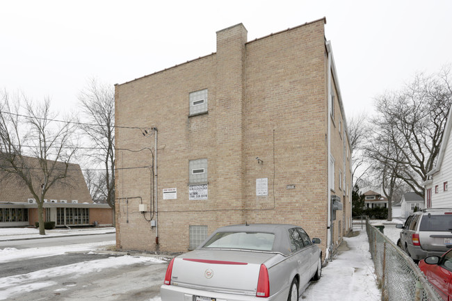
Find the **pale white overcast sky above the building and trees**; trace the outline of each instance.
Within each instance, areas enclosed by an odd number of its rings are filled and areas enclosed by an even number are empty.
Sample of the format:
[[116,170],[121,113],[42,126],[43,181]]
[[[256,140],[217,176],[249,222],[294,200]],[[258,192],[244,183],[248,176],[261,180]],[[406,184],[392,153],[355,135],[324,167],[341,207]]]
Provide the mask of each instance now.
[[373,97],[452,63],[452,1],[0,1],[0,88],[76,111],[88,79],[124,83],[326,17],[347,117]]

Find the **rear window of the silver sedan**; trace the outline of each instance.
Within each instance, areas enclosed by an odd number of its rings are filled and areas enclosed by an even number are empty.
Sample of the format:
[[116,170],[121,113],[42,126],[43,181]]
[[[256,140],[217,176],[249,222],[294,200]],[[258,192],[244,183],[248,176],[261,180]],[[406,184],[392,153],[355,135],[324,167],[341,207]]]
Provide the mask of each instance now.
[[275,234],[255,232],[218,232],[202,247],[271,251]]

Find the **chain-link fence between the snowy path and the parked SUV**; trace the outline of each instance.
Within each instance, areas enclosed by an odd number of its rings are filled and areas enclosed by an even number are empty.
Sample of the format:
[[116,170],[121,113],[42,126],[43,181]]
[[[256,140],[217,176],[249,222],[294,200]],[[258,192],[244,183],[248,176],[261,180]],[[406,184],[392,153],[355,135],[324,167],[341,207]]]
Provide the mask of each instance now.
[[383,301],[442,301],[417,264],[369,220],[366,231]]

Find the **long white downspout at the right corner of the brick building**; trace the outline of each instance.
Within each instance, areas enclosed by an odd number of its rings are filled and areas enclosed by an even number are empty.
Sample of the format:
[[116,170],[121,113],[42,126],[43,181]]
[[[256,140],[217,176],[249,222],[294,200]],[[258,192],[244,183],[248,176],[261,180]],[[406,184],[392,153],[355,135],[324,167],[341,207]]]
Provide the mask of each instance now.
[[332,214],[331,214],[331,167],[330,167],[330,161],[331,161],[331,44],[330,41],[325,42],[325,46],[327,49],[327,55],[328,55],[328,72],[327,72],[327,76],[328,76],[328,80],[327,80],[327,85],[328,85],[328,112],[327,112],[327,119],[328,119],[328,133],[327,133],[327,143],[328,143],[328,200],[327,200],[327,204],[328,204],[328,222],[327,222],[327,227],[328,227],[328,231],[327,231],[327,245],[326,245],[326,254],[325,254],[325,261],[327,261],[331,256],[332,256],[332,252],[331,252],[331,241],[332,241],[332,222],[331,222],[331,218],[332,218]]

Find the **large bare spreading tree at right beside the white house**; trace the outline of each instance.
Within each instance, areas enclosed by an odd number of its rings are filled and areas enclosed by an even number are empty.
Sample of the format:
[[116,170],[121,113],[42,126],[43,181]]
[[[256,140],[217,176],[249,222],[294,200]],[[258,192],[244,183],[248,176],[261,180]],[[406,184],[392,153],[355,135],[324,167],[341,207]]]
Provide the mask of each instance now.
[[421,183],[434,167],[451,107],[449,73],[443,69],[430,76],[418,74],[402,90],[376,99],[373,125],[379,139],[373,141],[373,158],[385,165],[386,176],[401,179],[421,197]]

